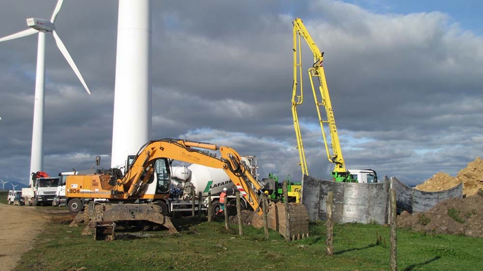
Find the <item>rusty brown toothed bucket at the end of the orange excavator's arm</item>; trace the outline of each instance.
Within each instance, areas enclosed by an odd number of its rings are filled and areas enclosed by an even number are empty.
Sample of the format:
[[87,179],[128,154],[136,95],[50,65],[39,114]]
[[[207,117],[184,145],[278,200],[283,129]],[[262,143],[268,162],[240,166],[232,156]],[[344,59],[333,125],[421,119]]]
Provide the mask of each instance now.
[[[276,230],[285,238],[288,236],[290,240],[298,240],[309,236],[309,214],[305,206],[301,203],[288,203],[288,223],[285,217],[284,203],[270,203],[268,208],[268,227]],[[256,228],[263,227],[263,218],[253,216],[253,226]],[[287,232],[286,225],[289,230]]]

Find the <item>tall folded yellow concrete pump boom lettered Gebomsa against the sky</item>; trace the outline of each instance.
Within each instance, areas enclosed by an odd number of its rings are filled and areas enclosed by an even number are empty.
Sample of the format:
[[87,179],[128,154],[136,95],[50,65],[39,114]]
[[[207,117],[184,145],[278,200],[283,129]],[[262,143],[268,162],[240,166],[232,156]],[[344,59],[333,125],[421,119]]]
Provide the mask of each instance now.
[[[327,151],[327,159],[331,163],[335,163],[334,172],[332,175],[336,180],[339,177],[346,178],[350,174],[345,169],[344,158],[342,156],[341,144],[339,142],[339,135],[337,133],[337,127],[335,124],[334,111],[330,102],[330,96],[327,87],[326,76],[324,73],[324,67],[322,66],[324,61],[324,53],[321,53],[311,35],[305,28],[302,20],[296,18],[293,21],[293,54],[294,54],[294,81],[293,81],[293,95],[292,95],[292,115],[294,119],[295,133],[297,136],[298,152],[300,156],[300,166],[302,168],[302,174],[308,175],[307,162],[305,160],[305,151],[302,143],[302,136],[300,134],[300,123],[298,121],[297,106],[303,103],[303,84],[302,84],[302,52],[301,43],[302,39],[307,42],[310,50],[313,54],[313,66],[309,68],[309,78],[312,86],[313,98],[315,106],[317,108],[317,114],[319,117],[320,128],[322,130],[322,136],[324,138],[324,144]],[[298,81],[298,77],[299,80]],[[315,91],[313,77],[318,81],[318,94]],[[320,96],[320,97],[319,97]],[[321,114],[321,108],[326,113],[326,118],[323,119]],[[327,144],[327,137],[324,131],[324,123],[327,123],[330,131],[330,149]],[[332,152],[330,151],[332,150]]]

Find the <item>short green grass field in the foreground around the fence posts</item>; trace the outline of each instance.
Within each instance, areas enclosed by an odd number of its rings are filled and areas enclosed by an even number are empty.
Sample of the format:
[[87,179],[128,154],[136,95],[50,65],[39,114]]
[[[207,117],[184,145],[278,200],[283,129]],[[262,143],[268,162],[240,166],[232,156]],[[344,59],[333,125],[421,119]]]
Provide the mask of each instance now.
[[[37,207],[43,208],[43,207]],[[15,270],[389,270],[389,228],[344,224],[334,228],[334,255],[326,256],[325,226],[311,223],[309,238],[285,242],[270,230],[198,218],[174,220],[180,233],[148,231],[111,242],[82,236],[57,216]],[[382,236],[378,238],[378,235]],[[398,230],[399,270],[483,270],[483,240]]]

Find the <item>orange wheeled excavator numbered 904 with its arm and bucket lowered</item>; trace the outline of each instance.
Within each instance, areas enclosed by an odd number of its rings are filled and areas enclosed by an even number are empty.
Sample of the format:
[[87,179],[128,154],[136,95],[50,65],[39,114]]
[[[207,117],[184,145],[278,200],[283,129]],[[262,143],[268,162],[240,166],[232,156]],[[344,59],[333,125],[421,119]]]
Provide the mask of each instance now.
[[[212,151],[219,151],[216,154]],[[144,221],[177,231],[167,216],[172,188],[170,164],[173,161],[223,169],[241,196],[258,216],[262,216],[262,187],[248,170],[241,156],[229,147],[182,139],[165,138],[147,142],[128,164],[126,172],[112,168],[100,174],[71,175],[66,180],[67,206],[80,211],[91,227],[105,227],[116,221]],[[150,184],[155,185],[150,185]],[[92,200],[96,199],[96,200]],[[285,234],[284,206],[272,204],[269,224]],[[290,234],[308,235],[308,213],[304,205],[290,203]],[[269,212],[269,214],[270,214]],[[276,213],[276,214],[275,214]],[[111,227],[111,226],[108,226]],[[97,232],[97,230],[96,230]]]

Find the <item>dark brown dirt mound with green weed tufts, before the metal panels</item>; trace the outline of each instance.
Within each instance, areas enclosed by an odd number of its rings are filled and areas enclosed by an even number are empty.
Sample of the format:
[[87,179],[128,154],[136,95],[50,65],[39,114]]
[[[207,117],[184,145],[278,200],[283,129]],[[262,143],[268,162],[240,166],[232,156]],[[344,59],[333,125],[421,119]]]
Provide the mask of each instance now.
[[464,199],[436,204],[425,213],[398,216],[398,227],[426,233],[463,234],[483,237],[483,191]]

